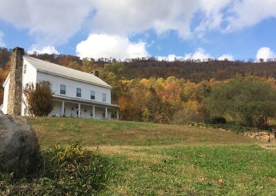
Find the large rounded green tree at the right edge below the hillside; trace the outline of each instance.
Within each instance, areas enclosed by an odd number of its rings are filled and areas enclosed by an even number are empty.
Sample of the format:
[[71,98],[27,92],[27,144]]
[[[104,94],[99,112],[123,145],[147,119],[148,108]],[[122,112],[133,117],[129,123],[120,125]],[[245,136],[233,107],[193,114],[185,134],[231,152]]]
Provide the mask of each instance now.
[[244,126],[264,127],[276,115],[276,92],[254,77],[232,79],[211,90],[211,117],[230,117]]

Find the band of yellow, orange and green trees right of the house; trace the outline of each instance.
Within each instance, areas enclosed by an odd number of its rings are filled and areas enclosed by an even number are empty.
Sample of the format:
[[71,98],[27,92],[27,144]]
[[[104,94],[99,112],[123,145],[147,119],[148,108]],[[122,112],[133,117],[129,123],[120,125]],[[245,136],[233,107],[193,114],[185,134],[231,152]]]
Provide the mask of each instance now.
[[124,63],[106,63],[100,77],[112,88],[121,119],[163,124],[208,122],[214,118],[264,128],[274,123],[276,80],[236,76],[198,83],[167,77],[126,79]]

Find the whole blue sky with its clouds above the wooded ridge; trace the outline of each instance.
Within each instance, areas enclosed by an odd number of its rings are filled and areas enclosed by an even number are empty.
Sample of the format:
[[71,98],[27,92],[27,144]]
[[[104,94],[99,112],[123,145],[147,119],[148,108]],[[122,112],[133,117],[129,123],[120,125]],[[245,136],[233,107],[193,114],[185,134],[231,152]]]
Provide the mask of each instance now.
[[276,58],[272,0],[2,0],[0,46],[127,59]]

